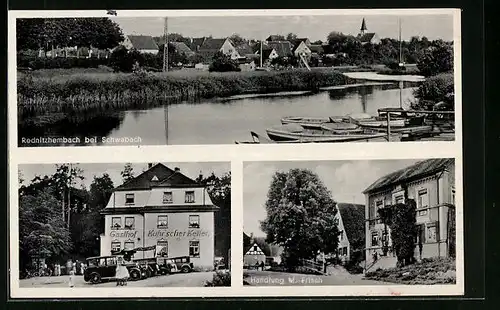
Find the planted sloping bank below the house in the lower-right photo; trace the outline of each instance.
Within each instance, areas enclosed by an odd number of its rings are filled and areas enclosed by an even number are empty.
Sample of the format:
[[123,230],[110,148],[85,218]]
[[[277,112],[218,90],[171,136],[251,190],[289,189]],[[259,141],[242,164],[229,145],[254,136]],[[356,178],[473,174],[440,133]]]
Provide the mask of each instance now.
[[411,285],[454,284],[456,263],[450,258],[430,258],[402,268],[367,272],[366,279]]

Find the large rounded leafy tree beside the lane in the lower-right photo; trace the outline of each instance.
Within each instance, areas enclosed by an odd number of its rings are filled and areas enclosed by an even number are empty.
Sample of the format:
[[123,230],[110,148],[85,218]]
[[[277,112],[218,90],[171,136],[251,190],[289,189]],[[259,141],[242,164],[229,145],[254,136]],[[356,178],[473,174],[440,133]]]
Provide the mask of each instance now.
[[338,247],[337,208],[320,178],[307,169],[277,172],[269,186],[261,222],[267,241],[284,248],[290,269],[301,258],[318,252],[334,253]]

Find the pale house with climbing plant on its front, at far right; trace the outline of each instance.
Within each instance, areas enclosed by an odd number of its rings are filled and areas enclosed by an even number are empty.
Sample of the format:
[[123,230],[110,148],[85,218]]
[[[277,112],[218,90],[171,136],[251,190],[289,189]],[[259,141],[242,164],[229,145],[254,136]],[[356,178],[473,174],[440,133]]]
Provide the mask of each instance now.
[[[418,235],[415,240],[415,257],[448,257],[453,255],[453,226],[455,210],[455,163],[454,159],[428,159],[388,174],[370,185],[366,197],[365,231],[366,259],[373,261],[374,253],[383,256],[388,246],[385,267],[394,267],[390,229],[380,218],[378,210],[387,205],[405,203],[405,197],[416,202]],[[420,245],[422,251],[420,253]],[[383,257],[381,257],[383,258]],[[382,267],[382,266],[380,266]]]

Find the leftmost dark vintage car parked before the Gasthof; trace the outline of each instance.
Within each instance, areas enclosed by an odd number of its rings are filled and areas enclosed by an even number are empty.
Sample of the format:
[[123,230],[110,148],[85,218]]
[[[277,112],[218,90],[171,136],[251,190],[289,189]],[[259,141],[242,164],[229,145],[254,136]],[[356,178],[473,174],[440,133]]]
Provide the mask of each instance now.
[[[119,259],[123,259],[123,257],[120,255],[110,255],[87,258],[83,279],[85,282],[93,284],[99,283],[103,279],[114,279]],[[130,280],[137,281],[146,276],[145,270],[140,268],[139,264],[126,260],[123,260],[123,264],[129,271]]]

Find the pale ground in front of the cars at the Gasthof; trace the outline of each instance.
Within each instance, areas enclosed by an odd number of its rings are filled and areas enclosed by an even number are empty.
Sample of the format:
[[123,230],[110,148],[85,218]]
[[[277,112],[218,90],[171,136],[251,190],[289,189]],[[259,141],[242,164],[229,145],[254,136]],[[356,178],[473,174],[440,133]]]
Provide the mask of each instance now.
[[[178,273],[166,276],[151,277],[139,281],[128,281],[132,287],[201,287],[205,281],[211,281],[213,272]],[[83,276],[74,277],[75,287],[113,287],[114,280],[103,281],[99,284],[87,283]],[[20,287],[69,287],[69,276],[35,277],[19,280]]]

